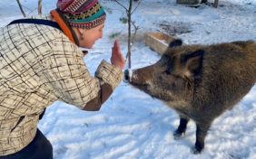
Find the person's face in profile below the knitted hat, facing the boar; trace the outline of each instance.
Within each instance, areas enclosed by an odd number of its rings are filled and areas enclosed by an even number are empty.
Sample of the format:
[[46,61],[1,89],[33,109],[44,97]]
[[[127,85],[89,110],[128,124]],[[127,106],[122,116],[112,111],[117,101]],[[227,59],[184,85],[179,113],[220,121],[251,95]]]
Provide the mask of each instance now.
[[[91,28],[91,29],[79,29],[80,38],[79,45],[80,47],[91,49],[94,46],[94,42],[103,37],[103,27],[104,23]],[[81,35],[83,34],[84,40],[81,40]]]

